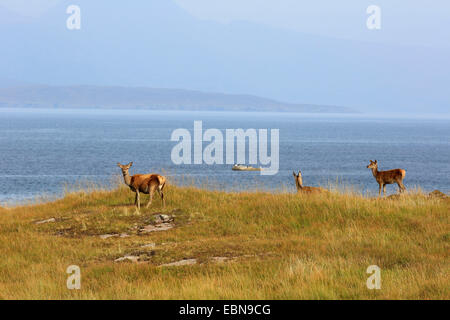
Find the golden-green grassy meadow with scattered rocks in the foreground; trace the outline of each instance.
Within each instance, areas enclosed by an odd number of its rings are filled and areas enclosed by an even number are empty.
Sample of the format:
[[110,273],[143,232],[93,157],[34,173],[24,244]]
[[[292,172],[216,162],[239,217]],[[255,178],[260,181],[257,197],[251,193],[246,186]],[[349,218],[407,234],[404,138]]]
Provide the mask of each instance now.
[[[0,208],[0,299],[450,298],[449,198],[174,185],[165,195],[164,209],[141,196],[140,213],[125,187]],[[161,213],[173,228],[140,232]],[[114,261],[127,255],[138,260]],[[183,259],[196,263],[162,266]],[[80,290],[66,287],[70,265]],[[380,290],[366,287],[370,265]]]

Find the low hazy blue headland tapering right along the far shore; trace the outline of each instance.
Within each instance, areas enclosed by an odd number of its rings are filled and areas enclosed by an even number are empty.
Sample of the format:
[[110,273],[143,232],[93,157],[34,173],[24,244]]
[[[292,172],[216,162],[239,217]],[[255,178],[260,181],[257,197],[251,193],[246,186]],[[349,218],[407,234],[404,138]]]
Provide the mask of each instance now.
[[349,113],[346,107],[292,104],[252,95],[100,86],[0,88],[0,107]]

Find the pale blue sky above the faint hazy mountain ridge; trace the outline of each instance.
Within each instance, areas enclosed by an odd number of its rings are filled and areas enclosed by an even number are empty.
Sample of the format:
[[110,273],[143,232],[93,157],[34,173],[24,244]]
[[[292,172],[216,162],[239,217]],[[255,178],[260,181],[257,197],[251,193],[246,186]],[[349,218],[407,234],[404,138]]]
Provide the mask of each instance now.
[[[448,0],[173,1],[194,17],[221,23],[249,21],[343,39],[450,47]],[[61,0],[0,0],[0,6],[34,17],[59,2]],[[364,24],[365,9],[371,4],[382,9],[382,30],[376,33],[368,32]]]

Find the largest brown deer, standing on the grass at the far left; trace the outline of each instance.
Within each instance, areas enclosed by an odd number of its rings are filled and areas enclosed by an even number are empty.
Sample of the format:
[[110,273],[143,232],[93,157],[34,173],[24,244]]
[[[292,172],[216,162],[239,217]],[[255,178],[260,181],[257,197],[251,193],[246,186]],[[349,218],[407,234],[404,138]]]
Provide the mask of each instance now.
[[135,174],[134,176],[130,176],[128,170],[133,165],[133,162],[130,162],[127,165],[122,165],[117,163],[117,166],[122,169],[123,180],[125,184],[130,187],[131,191],[136,192],[136,198],[134,200],[134,205],[138,210],[141,210],[141,199],[139,194],[142,192],[144,194],[150,195],[150,200],[147,203],[146,208],[148,208],[152,204],[152,199],[155,191],[158,191],[161,196],[161,201],[163,207],[165,206],[164,201],[164,187],[166,185],[166,178],[159,174]]

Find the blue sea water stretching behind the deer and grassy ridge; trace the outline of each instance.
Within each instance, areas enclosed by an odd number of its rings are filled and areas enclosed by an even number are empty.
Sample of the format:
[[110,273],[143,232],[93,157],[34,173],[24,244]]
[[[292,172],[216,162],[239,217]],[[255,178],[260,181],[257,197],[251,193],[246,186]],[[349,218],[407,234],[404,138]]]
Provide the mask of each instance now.
[[[174,129],[279,129],[280,168],[274,176],[236,172],[231,165],[176,165]],[[204,144],[205,146],[207,143]],[[292,113],[227,113],[148,110],[0,109],[0,205],[61,196],[88,181],[103,186],[120,174],[164,172],[171,181],[227,190],[295,191],[292,171],[305,185],[329,182],[375,193],[366,168],[406,169],[405,185],[450,191],[450,119]],[[389,193],[397,191],[388,186]]]

